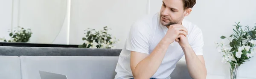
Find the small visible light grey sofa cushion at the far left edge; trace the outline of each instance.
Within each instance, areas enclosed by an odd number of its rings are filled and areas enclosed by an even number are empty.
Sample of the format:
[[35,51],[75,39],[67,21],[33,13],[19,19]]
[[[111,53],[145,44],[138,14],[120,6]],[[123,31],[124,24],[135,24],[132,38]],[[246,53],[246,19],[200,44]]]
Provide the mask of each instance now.
[[0,56],[0,79],[21,79],[18,56]]

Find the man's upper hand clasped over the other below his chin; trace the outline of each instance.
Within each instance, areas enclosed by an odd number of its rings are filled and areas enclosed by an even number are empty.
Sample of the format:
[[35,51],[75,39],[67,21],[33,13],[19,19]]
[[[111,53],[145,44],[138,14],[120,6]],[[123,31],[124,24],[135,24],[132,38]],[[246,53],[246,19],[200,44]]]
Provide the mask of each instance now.
[[169,44],[171,44],[178,37],[180,37],[180,35],[184,35],[186,37],[187,34],[188,34],[188,31],[183,25],[180,25],[180,24],[170,25],[164,39],[168,40]]

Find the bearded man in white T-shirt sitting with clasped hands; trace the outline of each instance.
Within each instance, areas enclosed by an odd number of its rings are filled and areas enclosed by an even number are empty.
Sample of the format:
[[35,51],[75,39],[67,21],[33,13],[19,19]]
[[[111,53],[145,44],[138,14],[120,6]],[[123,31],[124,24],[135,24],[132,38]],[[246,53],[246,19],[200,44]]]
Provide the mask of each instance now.
[[119,55],[115,79],[171,79],[183,55],[192,79],[206,79],[202,31],[183,20],[195,3],[163,0],[159,13],[135,22]]

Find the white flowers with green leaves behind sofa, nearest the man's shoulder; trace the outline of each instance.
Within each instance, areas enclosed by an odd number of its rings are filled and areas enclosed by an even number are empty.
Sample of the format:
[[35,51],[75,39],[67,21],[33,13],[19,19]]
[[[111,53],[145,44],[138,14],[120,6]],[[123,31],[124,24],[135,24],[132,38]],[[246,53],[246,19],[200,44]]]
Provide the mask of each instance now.
[[79,48],[116,48],[113,44],[117,43],[119,40],[116,40],[115,37],[111,37],[111,34],[108,34],[107,26],[104,27],[104,30],[96,31],[95,29],[87,28],[84,34],[85,37],[82,38],[84,43],[79,45]]

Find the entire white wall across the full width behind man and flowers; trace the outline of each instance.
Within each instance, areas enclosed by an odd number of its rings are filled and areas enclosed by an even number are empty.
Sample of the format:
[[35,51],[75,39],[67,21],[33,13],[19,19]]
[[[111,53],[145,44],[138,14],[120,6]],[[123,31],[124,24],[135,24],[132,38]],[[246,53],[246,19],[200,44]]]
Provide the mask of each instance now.
[[[117,48],[123,47],[130,25],[135,20],[160,11],[162,4],[162,0],[100,0],[101,3],[71,0],[69,26],[68,0],[13,1],[14,5],[12,0],[0,0],[0,37],[9,37],[7,30],[12,25],[20,25],[32,29],[31,42],[78,45],[83,42],[84,29],[99,30],[108,26],[112,28],[109,33],[121,40],[116,44]],[[203,31],[207,79],[228,79],[229,65],[221,63],[221,54],[215,49],[214,41],[220,42],[221,35],[229,36],[235,22],[254,26],[255,3],[256,0],[197,0],[192,13],[186,17]],[[256,79],[256,58],[250,60],[241,65],[239,78]]]

